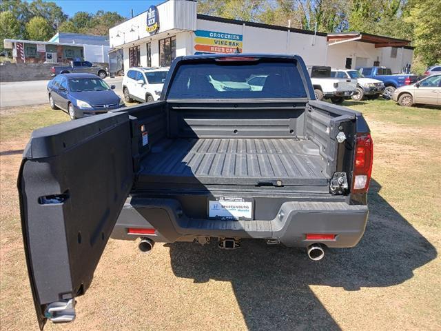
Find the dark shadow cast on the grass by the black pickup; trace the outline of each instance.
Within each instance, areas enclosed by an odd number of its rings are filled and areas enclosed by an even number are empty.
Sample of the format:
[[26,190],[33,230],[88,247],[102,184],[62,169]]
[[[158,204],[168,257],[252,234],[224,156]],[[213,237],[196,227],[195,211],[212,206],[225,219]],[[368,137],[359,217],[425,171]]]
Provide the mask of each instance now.
[[313,262],[304,249],[264,241],[243,240],[234,251],[219,250],[216,241],[173,243],[172,269],[195,283],[230,281],[249,330],[340,330],[309,285],[347,291],[397,285],[437,255],[380,189],[371,181],[369,222],[356,248],[327,250],[322,261]]

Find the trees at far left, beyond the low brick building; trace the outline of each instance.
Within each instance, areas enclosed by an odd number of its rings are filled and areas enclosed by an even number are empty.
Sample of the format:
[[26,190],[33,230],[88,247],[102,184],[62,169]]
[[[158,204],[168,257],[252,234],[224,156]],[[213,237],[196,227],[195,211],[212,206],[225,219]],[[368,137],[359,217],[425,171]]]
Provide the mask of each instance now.
[[68,17],[54,2],[0,1],[0,50],[3,39],[48,41],[57,32],[107,35],[109,28],[125,21],[117,12],[76,12]]

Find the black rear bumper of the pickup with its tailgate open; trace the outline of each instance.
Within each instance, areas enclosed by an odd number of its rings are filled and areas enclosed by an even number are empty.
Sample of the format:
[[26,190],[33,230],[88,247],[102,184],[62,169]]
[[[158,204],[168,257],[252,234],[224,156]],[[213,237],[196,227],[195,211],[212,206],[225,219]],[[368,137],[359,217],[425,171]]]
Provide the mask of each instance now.
[[[324,243],[330,248],[349,248],[360,241],[367,223],[366,205],[344,202],[289,201],[271,220],[222,221],[189,219],[174,199],[127,199],[112,238],[134,240],[149,237],[158,242],[192,241],[196,237],[278,239],[288,247]],[[155,234],[127,234],[128,228],[154,228]],[[307,233],[336,234],[336,239],[307,241]]]

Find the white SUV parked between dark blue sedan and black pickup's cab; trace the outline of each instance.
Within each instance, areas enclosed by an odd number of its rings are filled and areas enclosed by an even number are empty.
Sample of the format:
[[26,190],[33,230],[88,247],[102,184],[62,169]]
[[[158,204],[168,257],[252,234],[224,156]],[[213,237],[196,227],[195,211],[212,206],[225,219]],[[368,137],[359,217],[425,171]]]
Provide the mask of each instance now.
[[169,68],[130,68],[124,74],[123,94],[127,102],[159,99]]

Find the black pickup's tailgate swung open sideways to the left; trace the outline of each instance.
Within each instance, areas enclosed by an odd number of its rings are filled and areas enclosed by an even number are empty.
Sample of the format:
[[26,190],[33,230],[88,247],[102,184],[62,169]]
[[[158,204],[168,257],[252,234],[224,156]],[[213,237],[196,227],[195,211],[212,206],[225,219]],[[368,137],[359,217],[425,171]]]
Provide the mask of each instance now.
[[127,112],[35,130],[18,189],[40,328],[72,321],[134,180]]

